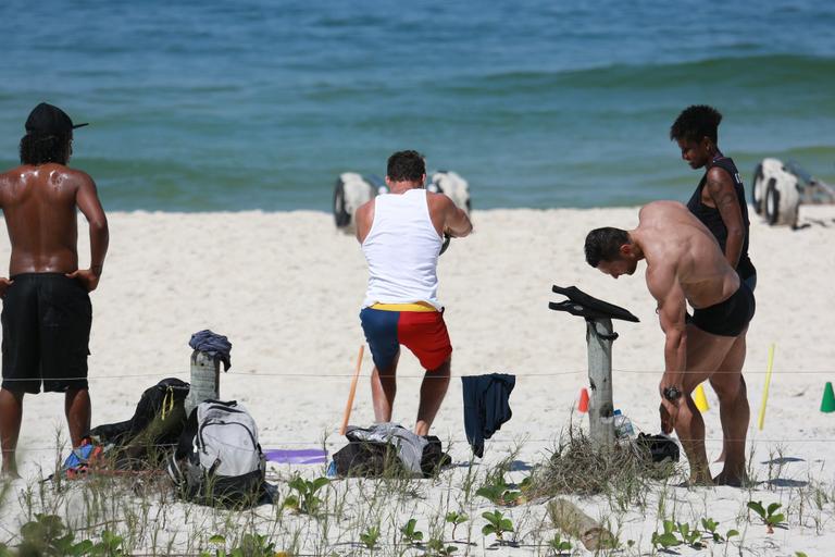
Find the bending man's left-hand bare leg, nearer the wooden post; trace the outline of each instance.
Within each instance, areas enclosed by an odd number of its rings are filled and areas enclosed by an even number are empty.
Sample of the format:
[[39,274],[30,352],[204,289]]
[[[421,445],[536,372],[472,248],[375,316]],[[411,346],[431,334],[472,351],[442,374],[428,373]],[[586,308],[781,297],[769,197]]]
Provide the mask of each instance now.
[[687,325],[685,396],[680,404],[675,433],[690,465],[691,483],[710,484],[712,481],[705,448],[705,420],[690,394],[701,382],[713,375],[733,344],[734,337],[712,335],[693,324]]

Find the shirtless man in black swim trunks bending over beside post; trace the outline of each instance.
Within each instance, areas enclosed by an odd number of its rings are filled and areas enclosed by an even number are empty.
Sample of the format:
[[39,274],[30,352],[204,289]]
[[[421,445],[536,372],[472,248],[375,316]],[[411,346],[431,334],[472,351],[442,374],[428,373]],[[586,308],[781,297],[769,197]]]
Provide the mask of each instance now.
[[[710,231],[673,201],[645,206],[634,231],[597,228],[586,236],[586,261],[618,278],[647,261],[647,287],[658,300],[666,336],[661,377],[661,429],[675,429],[690,462],[690,483],[741,485],[750,411],[741,370],[753,317],[750,288],[739,281]],[[687,315],[686,302],[694,308]],[[719,395],[725,467],[711,481],[705,422],[690,393],[705,380]]]

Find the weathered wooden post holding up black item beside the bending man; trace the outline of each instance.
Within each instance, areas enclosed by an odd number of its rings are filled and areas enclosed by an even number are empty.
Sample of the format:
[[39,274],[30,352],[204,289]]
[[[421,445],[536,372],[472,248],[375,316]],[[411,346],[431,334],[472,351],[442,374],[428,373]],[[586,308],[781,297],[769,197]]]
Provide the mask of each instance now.
[[591,443],[597,449],[614,447],[612,403],[612,343],[618,334],[611,319],[586,320],[588,346],[588,420]]

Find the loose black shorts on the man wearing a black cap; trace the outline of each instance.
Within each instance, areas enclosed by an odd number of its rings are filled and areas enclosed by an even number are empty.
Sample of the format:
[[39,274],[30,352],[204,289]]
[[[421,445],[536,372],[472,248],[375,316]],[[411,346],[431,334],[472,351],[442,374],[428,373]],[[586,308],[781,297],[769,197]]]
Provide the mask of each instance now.
[[3,388],[17,393],[87,388],[92,307],[63,273],[11,277],[3,297]]

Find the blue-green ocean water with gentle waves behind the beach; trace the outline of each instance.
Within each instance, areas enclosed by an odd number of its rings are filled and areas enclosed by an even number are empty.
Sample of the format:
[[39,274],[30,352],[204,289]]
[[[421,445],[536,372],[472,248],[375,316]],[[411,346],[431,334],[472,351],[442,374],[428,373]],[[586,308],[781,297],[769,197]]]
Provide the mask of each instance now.
[[623,206],[689,196],[669,127],[710,103],[747,183],[835,182],[833,29],[820,0],[4,0],[0,165],[47,100],[108,209],[329,211],[406,148],[475,208]]

